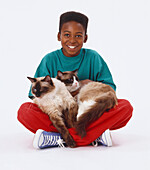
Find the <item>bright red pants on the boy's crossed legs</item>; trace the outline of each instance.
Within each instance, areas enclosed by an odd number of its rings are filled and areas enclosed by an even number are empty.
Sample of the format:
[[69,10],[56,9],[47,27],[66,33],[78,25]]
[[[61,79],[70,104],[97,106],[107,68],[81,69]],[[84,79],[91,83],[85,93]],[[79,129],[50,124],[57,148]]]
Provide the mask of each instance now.
[[[115,108],[105,112],[98,120],[87,127],[87,135],[83,139],[77,135],[74,128],[70,128],[69,132],[76,141],[77,146],[88,145],[97,139],[105,130],[115,130],[125,126],[132,116],[132,111],[133,108],[127,100],[119,99],[118,105]],[[58,132],[50,121],[49,116],[43,113],[36,104],[31,102],[21,105],[18,110],[18,120],[33,133],[38,129]]]

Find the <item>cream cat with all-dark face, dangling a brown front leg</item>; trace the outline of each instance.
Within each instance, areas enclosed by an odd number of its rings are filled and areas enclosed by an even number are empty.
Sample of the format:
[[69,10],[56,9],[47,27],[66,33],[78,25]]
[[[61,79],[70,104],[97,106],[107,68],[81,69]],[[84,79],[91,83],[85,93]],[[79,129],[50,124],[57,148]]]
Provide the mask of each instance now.
[[67,127],[73,127],[78,105],[65,84],[50,76],[28,79],[32,83],[33,102],[49,116],[66,144],[75,147],[75,141]]

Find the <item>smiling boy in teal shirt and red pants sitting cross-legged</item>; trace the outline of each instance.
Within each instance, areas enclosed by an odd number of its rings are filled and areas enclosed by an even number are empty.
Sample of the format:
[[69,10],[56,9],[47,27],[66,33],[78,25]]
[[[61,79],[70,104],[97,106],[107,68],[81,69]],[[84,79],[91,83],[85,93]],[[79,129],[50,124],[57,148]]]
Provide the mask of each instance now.
[[[47,54],[36,70],[35,77],[50,75],[56,77],[57,71],[72,71],[78,69],[79,80],[82,84],[89,81],[99,81],[116,86],[111,73],[102,57],[93,50],[82,48],[87,41],[88,18],[77,12],[66,12],[60,16],[58,41],[62,48]],[[73,94],[75,95],[75,94]],[[31,90],[29,97],[33,98]],[[121,128],[127,124],[132,116],[132,106],[127,100],[118,100],[118,106],[105,112],[98,120],[87,128],[87,135],[81,139],[74,128],[69,132],[77,146],[95,145],[102,143],[111,146],[109,130]],[[37,105],[24,103],[18,111],[18,120],[31,132],[36,133],[33,145],[35,148],[64,146],[56,128],[52,125],[48,115],[44,114]],[[40,130],[43,129],[43,130]]]

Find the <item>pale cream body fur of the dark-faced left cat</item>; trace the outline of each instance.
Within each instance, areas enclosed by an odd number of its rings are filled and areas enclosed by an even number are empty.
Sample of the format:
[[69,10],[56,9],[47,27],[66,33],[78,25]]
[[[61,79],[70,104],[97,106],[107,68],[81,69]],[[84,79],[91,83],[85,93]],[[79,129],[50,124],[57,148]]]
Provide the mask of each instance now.
[[[40,80],[42,78],[38,79]],[[57,80],[56,78],[52,78],[52,81],[54,83],[55,89],[45,94],[41,98],[33,99],[33,102],[36,103],[41,108],[41,110],[48,115],[57,109],[59,110],[57,113],[61,116],[63,109],[70,109],[70,106],[72,104],[76,104],[76,102],[67,90],[64,83]]]

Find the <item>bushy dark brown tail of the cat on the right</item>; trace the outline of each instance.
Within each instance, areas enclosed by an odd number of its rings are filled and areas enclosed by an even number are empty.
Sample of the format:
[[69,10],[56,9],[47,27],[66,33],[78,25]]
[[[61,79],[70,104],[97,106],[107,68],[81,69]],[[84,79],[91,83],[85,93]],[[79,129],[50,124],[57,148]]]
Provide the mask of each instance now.
[[95,104],[79,116],[75,128],[82,138],[86,135],[87,126],[97,120],[105,111],[117,105],[117,97],[114,92],[107,92],[95,100]]

